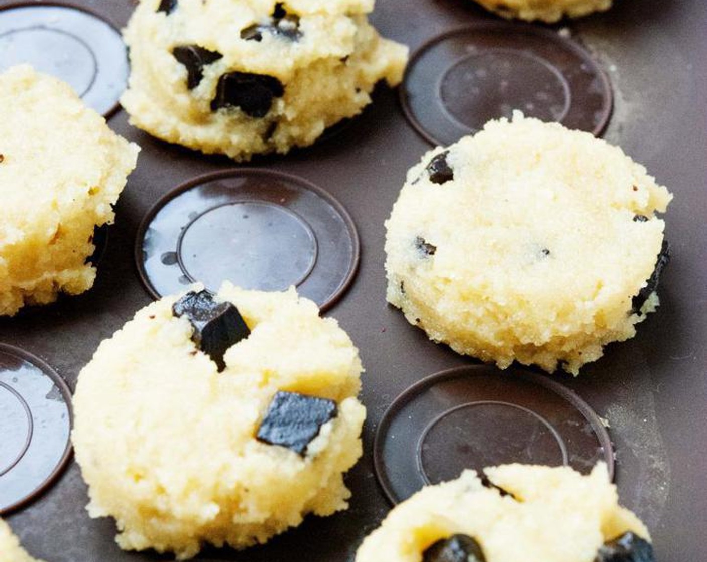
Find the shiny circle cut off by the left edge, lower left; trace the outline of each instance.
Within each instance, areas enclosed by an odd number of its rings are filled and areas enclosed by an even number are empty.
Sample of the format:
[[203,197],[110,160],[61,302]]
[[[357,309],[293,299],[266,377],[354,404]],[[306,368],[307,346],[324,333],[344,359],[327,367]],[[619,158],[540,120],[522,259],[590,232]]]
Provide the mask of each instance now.
[[69,461],[70,432],[71,392],[62,377],[0,344],[0,515],[53,484]]

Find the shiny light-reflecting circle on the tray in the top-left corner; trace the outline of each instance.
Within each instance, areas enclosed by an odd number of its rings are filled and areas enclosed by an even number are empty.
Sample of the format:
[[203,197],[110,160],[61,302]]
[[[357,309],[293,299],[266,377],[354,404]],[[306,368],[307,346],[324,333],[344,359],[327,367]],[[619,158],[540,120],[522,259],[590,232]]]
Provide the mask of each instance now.
[[83,8],[57,2],[0,8],[0,71],[16,64],[69,83],[105,116],[117,109],[129,73],[117,29]]

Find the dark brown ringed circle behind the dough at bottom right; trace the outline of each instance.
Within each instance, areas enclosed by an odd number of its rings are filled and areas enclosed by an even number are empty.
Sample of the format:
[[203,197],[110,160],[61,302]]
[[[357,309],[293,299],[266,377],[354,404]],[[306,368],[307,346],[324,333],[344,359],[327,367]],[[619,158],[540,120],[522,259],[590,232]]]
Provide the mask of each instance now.
[[469,365],[436,373],[400,394],[375,435],[373,462],[392,503],[423,486],[520,462],[588,473],[614,455],[601,419],[574,392],[518,368]]

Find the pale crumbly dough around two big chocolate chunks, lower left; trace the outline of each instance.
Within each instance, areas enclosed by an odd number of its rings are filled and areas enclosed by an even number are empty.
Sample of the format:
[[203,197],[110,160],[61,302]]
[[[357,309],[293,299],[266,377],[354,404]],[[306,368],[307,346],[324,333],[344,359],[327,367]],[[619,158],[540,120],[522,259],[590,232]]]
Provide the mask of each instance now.
[[[348,505],[342,475],[361,456],[366,415],[356,347],[294,289],[225,283],[217,298],[251,330],[223,372],[197,351],[170,296],[103,341],[78,377],[73,441],[88,512],[115,517],[123,549],[180,559],[204,542],[240,549]],[[279,390],[337,402],[305,457],[255,438]]]

